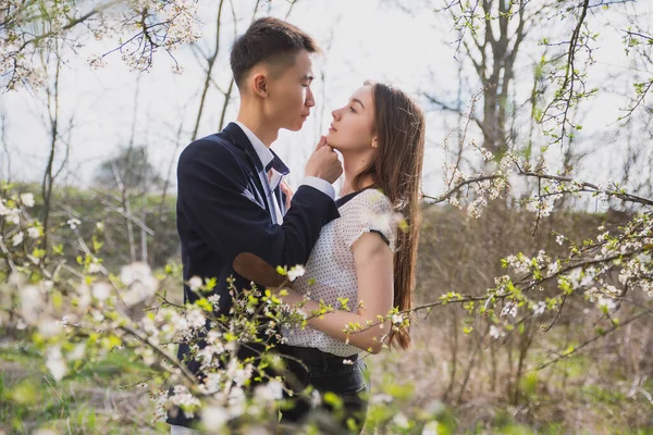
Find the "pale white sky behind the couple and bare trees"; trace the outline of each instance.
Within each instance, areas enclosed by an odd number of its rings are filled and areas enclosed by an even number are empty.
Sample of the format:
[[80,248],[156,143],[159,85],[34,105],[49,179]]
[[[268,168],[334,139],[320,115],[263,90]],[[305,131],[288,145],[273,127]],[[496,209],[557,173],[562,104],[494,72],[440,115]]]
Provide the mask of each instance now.
[[[205,37],[197,44],[207,49],[214,39],[212,23],[218,2],[200,1],[199,16],[204,23]],[[254,1],[238,0],[235,3],[236,32],[243,33],[251,18]],[[294,5],[288,21],[310,33],[324,50],[318,59],[313,84],[317,105],[311,117],[298,133],[282,130],[273,149],[293,170],[289,182],[297,185],[303,167],[321,133],[331,122],[331,110],[344,104],[348,96],[366,79],[382,80],[397,86],[418,98],[428,110],[427,152],[424,162],[424,191],[439,194],[443,189],[442,142],[456,120],[449,114],[431,110],[420,99],[422,90],[443,98],[453,98],[457,86],[458,61],[455,52],[455,34],[452,23],[442,13],[433,11],[440,1],[407,0],[299,0]],[[648,4],[646,4],[648,3]],[[644,16],[652,16],[653,2],[640,2],[638,8]],[[274,0],[262,2],[257,16],[271,14],[284,17],[288,2]],[[402,5],[410,4],[410,11]],[[231,11],[226,14],[229,17]],[[648,14],[648,15],[646,15]],[[230,20],[221,29],[221,51],[213,79],[226,88],[231,78],[229,48],[234,27]],[[596,21],[596,26],[601,25]],[[605,24],[605,22],[603,22]],[[627,23],[626,23],[627,24]],[[614,71],[628,65],[625,58],[619,23],[601,26],[600,48],[595,51],[595,71],[592,79],[606,79]],[[532,35],[543,29],[533,29]],[[562,28],[559,37],[566,36]],[[516,71],[517,92],[530,90],[532,63],[541,49],[533,37],[522,49],[525,54]],[[167,176],[174,170],[178,153],[187,145],[199,104],[202,70],[193,50],[188,47],[174,53],[184,67],[183,75],[172,73],[174,62],[165,53],[158,53],[151,71],[143,74],[130,72],[118,53],[109,55],[107,66],[101,70],[88,67],[90,54],[101,54],[115,47],[115,39],[88,41],[77,53],[67,52],[61,73],[61,119],[71,130],[70,154],[66,171],[60,183],[76,186],[88,185],[97,166],[114,156],[121,146],[128,144],[132,129],[134,142],[147,146],[150,161]],[[466,76],[472,77],[465,65]],[[473,86],[471,86],[473,88]],[[614,165],[615,156],[623,153],[621,145],[605,140],[603,132],[614,127],[624,101],[618,94],[626,91],[615,82],[615,95],[606,94],[584,108],[586,140],[600,138],[594,144],[596,152],[592,164],[583,175],[604,179]],[[229,107],[226,121],[233,120],[237,110],[237,94]],[[13,179],[39,181],[49,152],[47,127],[44,124],[44,95],[29,90],[1,95],[0,110],[5,115],[5,144],[9,153],[0,153],[0,177],[8,176],[8,166]],[[135,103],[137,101],[137,104]],[[464,104],[465,105],[465,104]],[[198,136],[218,130],[222,97],[211,89]],[[526,119],[525,121],[526,122]],[[177,130],[181,127],[181,135]],[[613,128],[614,129],[614,128]],[[178,137],[177,137],[178,136]],[[478,132],[470,132],[470,139],[480,140]],[[552,152],[555,153],[555,150]],[[63,152],[59,152],[61,162]],[[553,159],[555,160],[555,158]],[[172,172],[174,178],[174,171]]]

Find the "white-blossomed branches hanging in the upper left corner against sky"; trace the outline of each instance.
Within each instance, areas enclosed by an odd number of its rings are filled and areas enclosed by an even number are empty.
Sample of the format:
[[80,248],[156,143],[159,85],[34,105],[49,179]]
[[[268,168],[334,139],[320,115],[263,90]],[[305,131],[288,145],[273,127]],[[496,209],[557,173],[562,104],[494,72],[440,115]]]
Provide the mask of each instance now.
[[[119,49],[123,61],[131,69],[139,71],[151,66],[157,49],[171,53],[201,37],[197,1],[130,0],[126,3],[100,3],[89,13],[84,4],[73,0],[45,3],[3,0],[0,10],[9,16],[4,20],[0,44],[2,85],[9,90],[20,87],[44,88],[50,65],[42,65],[38,60],[56,57],[40,54],[48,54],[64,39],[69,42],[63,49],[70,46],[77,50],[87,42],[85,34],[96,40],[106,36],[115,37],[121,41]],[[82,16],[84,18],[79,20]],[[35,22],[38,23],[36,27]],[[27,30],[34,28],[37,32]],[[84,32],[79,32],[81,28]],[[112,51],[101,55],[91,54],[87,62],[93,69],[101,69]],[[183,69],[175,62],[173,71],[181,73]]]

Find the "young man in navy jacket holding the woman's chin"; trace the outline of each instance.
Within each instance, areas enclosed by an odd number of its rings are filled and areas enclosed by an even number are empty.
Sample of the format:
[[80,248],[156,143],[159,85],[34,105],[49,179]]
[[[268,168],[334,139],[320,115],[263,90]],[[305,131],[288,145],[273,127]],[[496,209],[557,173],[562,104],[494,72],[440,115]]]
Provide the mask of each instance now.
[[[238,253],[254,252],[274,265],[305,264],[322,225],[338,216],[332,183],[343,169],[323,138],[288,210],[281,186],[288,169],[269,149],[281,128],[300,129],[315,105],[311,54],[317,52],[316,41],[288,23],[271,17],[254,22],[231,53],[241,94],[236,122],[194,141],[180,157],[177,232],[184,282],[215,277],[220,313],[229,314],[232,303],[229,276],[236,288],[249,286],[232,268]],[[184,299],[197,299],[187,285]],[[180,360],[188,351],[180,346]],[[239,357],[250,356],[248,351],[243,348]],[[198,371],[195,363],[189,369]],[[183,412],[168,422],[173,433],[175,425],[193,423]]]

